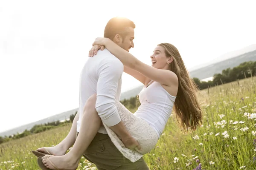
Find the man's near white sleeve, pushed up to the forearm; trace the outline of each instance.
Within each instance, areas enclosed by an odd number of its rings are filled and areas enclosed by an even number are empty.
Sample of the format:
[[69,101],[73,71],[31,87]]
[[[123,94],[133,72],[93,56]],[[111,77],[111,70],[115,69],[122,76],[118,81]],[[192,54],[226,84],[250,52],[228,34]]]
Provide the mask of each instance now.
[[99,66],[95,108],[102,122],[107,126],[114,126],[121,122],[115,100],[123,69],[122,62],[116,58],[103,60]]

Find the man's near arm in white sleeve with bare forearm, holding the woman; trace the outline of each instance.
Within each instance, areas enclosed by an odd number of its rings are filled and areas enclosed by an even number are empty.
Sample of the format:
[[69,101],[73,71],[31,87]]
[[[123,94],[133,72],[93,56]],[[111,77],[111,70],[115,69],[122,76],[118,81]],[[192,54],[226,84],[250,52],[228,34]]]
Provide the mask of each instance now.
[[97,82],[96,111],[102,122],[110,127],[125,144],[125,147],[140,149],[140,144],[132,138],[122,123],[116,106],[116,91],[123,72],[122,63],[116,59],[102,60],[99,65]]

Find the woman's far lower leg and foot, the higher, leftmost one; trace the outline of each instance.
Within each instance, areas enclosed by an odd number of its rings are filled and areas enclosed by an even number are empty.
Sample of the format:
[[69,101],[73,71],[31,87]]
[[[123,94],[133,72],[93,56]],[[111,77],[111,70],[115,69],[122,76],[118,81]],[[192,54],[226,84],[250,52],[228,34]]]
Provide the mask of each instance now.
[[41,147],[41,148],[38,148],[37,151],[42,152],[42,153],[47,153],[47,151],[48,151],[49,153],[51,153],[52,155],[55,155],[55,156],[61,156],[61,155],[66,154],[67,150],[71,146],[73,146],[73,144],[76,141],[76,127],[77,127],[76,122],[78,121],[78,119],[79,119],[79,113],[76,113],[76,116],[72,123],[72,127],[70,129],[70,132],[68,133],[66,138],[63,139],[59,144],[57,144],[54,147]]

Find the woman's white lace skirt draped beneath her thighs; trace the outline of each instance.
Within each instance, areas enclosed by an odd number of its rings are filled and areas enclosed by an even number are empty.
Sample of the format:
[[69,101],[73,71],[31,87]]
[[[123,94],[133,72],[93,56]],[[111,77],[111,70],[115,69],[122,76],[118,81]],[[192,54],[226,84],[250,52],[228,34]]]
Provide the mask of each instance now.
[[125,108],[122,103],[116,102],[116,107],[126,129],[131,136],[140,143],[141,150],[130,150],[126,148],[116,133],[104,123],[103,125],[106,128],[111,141],[122,155],[131,162],[135,162],[155,147],[158,141],[157,133],[148,122],[135,116]]

